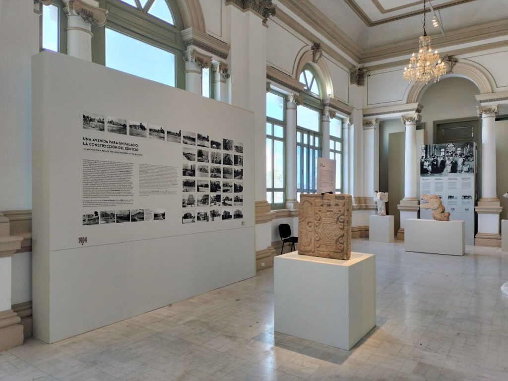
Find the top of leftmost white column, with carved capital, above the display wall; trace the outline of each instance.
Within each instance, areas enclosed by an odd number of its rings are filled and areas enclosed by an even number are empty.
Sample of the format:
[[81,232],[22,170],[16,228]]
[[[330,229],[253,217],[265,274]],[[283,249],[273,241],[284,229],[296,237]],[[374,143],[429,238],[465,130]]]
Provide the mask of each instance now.
[[108,11],[99,8],[98,0],[63,0],[67,14],[67,54],[92,60],[91,26],[104,26]]

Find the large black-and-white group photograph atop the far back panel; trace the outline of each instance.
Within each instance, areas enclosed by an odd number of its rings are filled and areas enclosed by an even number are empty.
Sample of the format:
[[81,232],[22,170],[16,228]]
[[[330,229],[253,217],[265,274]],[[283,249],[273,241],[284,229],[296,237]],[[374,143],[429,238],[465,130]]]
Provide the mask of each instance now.
[[420,175],[469,176],[474,173],[474,157],[473,142],[424,145],[420,157]]

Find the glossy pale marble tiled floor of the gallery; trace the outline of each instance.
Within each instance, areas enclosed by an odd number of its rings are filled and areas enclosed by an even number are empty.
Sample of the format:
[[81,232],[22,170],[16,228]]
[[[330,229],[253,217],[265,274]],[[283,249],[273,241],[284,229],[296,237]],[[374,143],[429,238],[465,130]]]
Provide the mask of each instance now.
[[0,380],[508,380],[506,253],[353,249],[376,254],[377,327],[351,351],[274,333],[267,269],[51,345],[30,339],[0,353]]

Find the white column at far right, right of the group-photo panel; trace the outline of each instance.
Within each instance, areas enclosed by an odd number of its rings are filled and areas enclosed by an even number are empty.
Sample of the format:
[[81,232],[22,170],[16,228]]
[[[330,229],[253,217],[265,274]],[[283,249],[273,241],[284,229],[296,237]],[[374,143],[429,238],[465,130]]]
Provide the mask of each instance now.
[[499,106],[477,107],[482,117],[482,194],[478,206],[478,233],[474,237],[475,245],[501,245],[499,218],[502,211],[496,192],[496,115]]

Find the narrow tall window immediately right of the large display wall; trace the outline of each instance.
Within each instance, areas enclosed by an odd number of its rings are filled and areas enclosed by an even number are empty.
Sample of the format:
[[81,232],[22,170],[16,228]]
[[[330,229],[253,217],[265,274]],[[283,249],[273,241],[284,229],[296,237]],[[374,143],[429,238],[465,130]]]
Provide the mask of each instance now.
[[273,208],[285,202],[285,97],[266,94],[266,199]]

